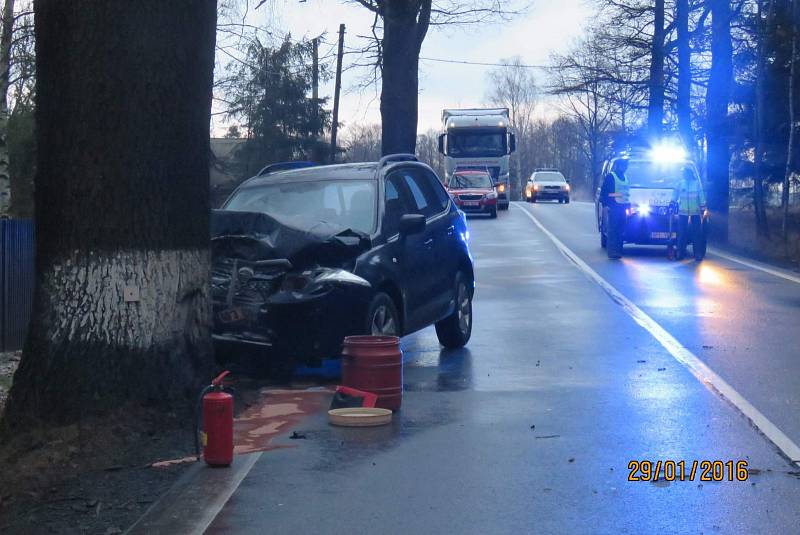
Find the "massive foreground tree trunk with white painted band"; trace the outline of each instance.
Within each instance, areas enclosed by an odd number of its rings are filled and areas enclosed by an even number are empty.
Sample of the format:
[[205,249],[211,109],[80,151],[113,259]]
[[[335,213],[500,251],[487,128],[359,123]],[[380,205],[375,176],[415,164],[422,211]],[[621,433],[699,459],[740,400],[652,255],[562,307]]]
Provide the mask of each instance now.
[[37,290],[11,428],[188,399],[211,363],[216,2],[35,12]]

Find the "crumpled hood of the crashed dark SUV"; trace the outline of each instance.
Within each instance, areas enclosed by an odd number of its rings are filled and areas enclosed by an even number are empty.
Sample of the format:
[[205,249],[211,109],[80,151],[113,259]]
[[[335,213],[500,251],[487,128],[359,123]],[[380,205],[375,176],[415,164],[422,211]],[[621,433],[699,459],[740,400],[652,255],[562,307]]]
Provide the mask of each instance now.
[[286,259],[295,268],[340,265],[369,248],[369,238],[333,223],[256,212],[212,210],[211,253],[243,260]]

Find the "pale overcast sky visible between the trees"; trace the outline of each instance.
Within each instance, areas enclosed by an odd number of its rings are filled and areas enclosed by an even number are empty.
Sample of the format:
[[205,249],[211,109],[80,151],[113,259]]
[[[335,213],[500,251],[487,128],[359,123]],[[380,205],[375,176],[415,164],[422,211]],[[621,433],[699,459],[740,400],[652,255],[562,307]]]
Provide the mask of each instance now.
[[[583,32],[591,15],[587,3],[587,0],[533,0],[525,14],[508,22],[454,29],[434,27],[422,45],[421,56],[496,63],[519,55],[525,64],[545,64],[552,52],[564,51]],[[262,7],[251,12],[248,20],[263,24],[267,18],[271,19],[270,26],[291,33],[293,39],[325,33],[321,56],[335,52],[340,23],[347,26],[346,47],[363,44],[357,36],[369,34],[372,23],[368,10],[345,0],[277,0],[270,11]],[[354,55],[346,55],[345,68],[355,59]],[[438,130],[442,108],[484,105],[491,68],[421,61],[419,131]],[[541,80],[543,73],[534,72]],[[364,74],[364,70],[350,69],[342,76],[339,120],[345,125],[380,122],[379,88],[360,88],[358,83]],[[332,95],[331,80],[320,88],[320,96]],[[544,102],[538,113],[550,114],[553,106],[554,103]]]

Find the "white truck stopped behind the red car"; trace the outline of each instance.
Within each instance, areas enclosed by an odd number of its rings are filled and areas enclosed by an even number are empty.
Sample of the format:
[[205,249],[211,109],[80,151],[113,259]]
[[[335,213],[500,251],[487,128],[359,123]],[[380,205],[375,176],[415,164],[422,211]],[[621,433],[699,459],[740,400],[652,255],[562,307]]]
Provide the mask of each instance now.
[[457,169],[486,169],[497,186],[497,207],[511,199],[509,158],[516,150],[508,108],[442,110],[439,152],[445,156],[445,183]]

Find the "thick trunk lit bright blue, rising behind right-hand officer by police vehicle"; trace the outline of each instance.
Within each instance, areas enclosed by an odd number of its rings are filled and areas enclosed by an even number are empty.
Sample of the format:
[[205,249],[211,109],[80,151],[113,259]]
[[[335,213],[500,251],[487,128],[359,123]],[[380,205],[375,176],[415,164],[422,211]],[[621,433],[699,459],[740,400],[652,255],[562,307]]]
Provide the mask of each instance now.
[[731,10],[728,0],[711,1],[711,72],[706,93],[708,146],[708,206],[714,213],[714,236],[728,238],[728,195],[730,188],[730,146],[728,103],[733,82]]

